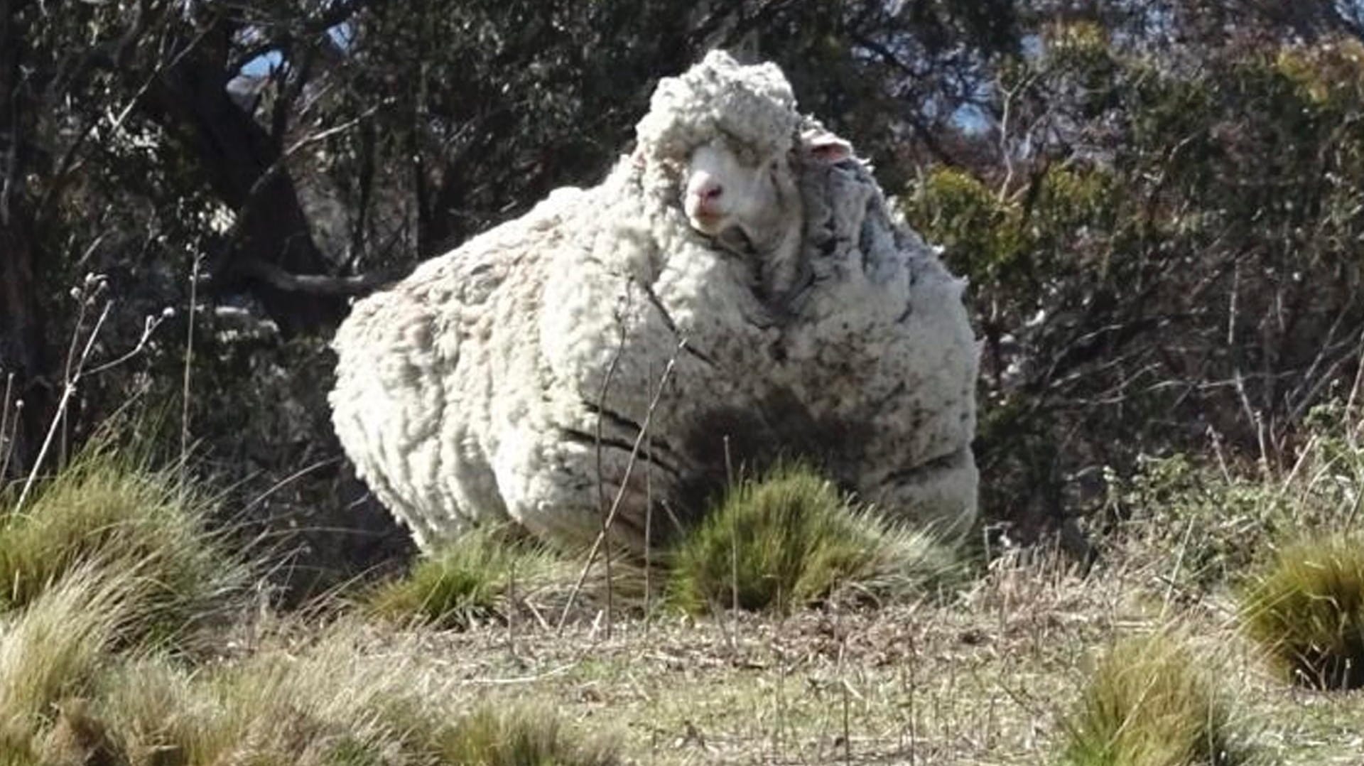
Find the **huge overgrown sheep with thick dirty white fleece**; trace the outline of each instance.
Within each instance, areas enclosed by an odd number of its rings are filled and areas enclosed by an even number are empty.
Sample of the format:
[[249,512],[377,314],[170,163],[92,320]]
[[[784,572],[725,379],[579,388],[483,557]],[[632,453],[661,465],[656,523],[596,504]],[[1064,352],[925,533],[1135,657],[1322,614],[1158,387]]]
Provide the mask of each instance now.
[[640,549],[728,471],[803,456],[888,511],[970,526],[963,283],[851,147],[775,66],[722,52],[663,79],[636,132],[602,184],[355,306],[330,401],[378,498],[430,549],[486,520],[587,542],[619,492],[612,537]]

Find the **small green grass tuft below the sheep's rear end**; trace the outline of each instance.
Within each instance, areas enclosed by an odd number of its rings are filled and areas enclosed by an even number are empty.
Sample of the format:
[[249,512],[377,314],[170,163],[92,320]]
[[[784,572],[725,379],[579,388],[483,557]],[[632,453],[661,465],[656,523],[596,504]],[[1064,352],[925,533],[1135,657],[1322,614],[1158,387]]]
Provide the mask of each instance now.
[[363,605],[390,621],[465,628],[495,617],[513,583],[525,593],[563,565],[552,550],[503,527],[477,527],[372,588]]

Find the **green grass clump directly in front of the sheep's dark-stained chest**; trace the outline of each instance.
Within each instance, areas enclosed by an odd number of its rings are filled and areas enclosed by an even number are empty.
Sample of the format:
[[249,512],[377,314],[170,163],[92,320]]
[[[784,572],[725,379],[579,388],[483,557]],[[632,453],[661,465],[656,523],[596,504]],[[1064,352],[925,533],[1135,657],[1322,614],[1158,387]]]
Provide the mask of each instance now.
[[746,479],[668,556],[668,598],[687,612],[786,612],[854,587],[922,591],[953,567],[923,533],[853,507],[807,466],[780,464]]

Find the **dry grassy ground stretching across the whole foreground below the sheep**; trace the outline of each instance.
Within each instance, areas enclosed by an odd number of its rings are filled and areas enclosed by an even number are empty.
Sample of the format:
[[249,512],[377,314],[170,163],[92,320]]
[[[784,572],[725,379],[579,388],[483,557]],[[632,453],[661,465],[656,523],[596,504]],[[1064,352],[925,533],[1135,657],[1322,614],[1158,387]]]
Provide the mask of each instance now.
[[[1364,700],[1274,683],[1219,597],[1173,605],[1161,572],[1109,560],[1082,576],[1064,558],[1016,552],[953,599],[619,617],[610,638],[591,616],[562,634],[535,621],[435,631],[285,619],[217,662],[101,649],[93,670],[44,695],[56,705],[23,741],[130,766],[1053,763],[1060,721],[1088,683],[1079,669],[1176,621],[1236,670],[1224,680],[1266,722],[1269,755],[1356,762],[1348,743]],[[593,732],[614,736],[602,744]],[[483,761],[460,750],[502,746]]]

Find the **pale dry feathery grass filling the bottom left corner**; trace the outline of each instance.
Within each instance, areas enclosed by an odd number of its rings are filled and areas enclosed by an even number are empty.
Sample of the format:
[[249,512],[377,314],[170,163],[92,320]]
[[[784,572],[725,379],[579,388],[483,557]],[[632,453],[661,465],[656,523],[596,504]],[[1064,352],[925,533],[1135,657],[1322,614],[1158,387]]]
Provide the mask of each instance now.
[[[405,639],[301,625],[237,659],[195,666],[120,639],[142,613],[135,575],[80,568],[0,632],[0,762],[217,766],[337,763],[607,766],[606,739],[525,702],[488,706]],[[421,661],[419,661],[421,659]]]

